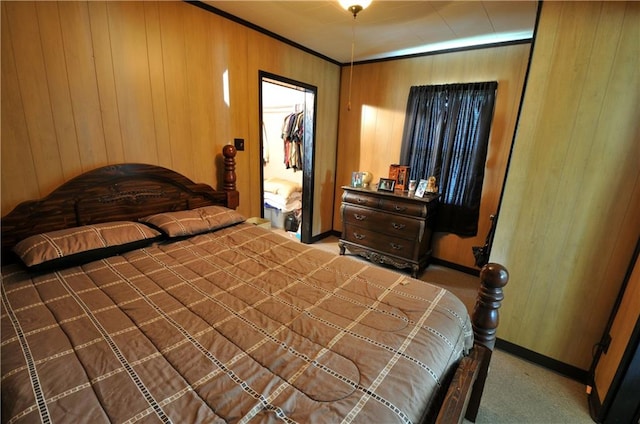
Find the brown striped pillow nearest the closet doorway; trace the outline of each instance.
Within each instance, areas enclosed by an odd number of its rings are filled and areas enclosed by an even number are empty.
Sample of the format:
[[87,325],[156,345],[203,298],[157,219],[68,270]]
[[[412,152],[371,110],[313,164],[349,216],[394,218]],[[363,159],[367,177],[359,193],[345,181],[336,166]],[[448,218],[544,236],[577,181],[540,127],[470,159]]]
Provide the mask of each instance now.
[[180,237],[228,227],[244,222],[245,217],[224,206],[204,206],[185,211],[159,213],[141,218],[140,221],[153,225],[169,237]]

